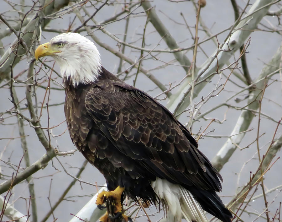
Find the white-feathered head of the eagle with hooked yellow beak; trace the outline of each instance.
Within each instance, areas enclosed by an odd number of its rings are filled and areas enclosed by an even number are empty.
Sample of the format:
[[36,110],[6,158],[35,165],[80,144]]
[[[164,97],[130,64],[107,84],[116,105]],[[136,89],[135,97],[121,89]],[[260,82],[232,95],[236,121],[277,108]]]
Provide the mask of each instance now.
[[63,82],[68,80],[74,87],[97,80],[101,72],[101,59],[97,47],[86,37],[73,32],[57,35],[35,50],[38,60],[51,56],[59,64]]

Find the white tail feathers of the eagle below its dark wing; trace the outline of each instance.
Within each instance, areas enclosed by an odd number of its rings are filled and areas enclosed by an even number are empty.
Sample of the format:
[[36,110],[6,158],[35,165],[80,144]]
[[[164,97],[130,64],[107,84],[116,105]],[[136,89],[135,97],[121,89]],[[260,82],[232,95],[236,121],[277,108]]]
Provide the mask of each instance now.
[[177,222],[181,221],[181,218],[185,218],[188,222],[208,222],[200,204],[184,187],[158,177],[152,182],[152,187],[160,201],[168,207],[168,212],[161,222]]

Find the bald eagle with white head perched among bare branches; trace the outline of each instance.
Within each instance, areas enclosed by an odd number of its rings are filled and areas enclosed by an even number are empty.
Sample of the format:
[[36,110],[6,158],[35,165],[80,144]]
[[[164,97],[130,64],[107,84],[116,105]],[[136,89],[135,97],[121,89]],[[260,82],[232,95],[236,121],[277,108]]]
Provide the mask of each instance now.
[[64,33],[36,49],[35,58],[43,56],[60,66],[72,142],[121,203],[127,196],[162,204],[169,222],[208,221],[204,210],[231,221],[216,193],[222,177],[189,131],[147,93],[108,72],[92,41]]

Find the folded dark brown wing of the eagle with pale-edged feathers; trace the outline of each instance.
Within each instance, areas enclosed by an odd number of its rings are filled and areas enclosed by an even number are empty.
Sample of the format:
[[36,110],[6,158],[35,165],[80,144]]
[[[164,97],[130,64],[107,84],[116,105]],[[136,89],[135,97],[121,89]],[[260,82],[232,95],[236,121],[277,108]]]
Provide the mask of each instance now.
[[221,190],[221,176],[170,111],[139,89],[105,81],[86,94],[86,109],[114,147],[135,160],[136,169],[183,187]]

